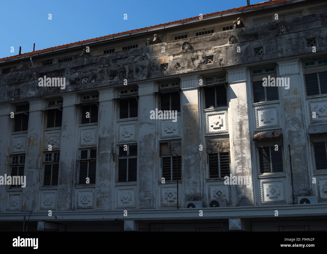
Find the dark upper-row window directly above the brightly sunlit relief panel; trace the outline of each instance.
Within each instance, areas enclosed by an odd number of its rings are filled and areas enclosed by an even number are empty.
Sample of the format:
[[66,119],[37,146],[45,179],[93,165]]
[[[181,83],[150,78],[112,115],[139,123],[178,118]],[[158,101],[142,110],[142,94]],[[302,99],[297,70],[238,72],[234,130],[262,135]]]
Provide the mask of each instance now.
[[227,89],[225,83],[225,75],[205,78],[205,85],[213,85],[204,87],[205,108],[227,106]]

